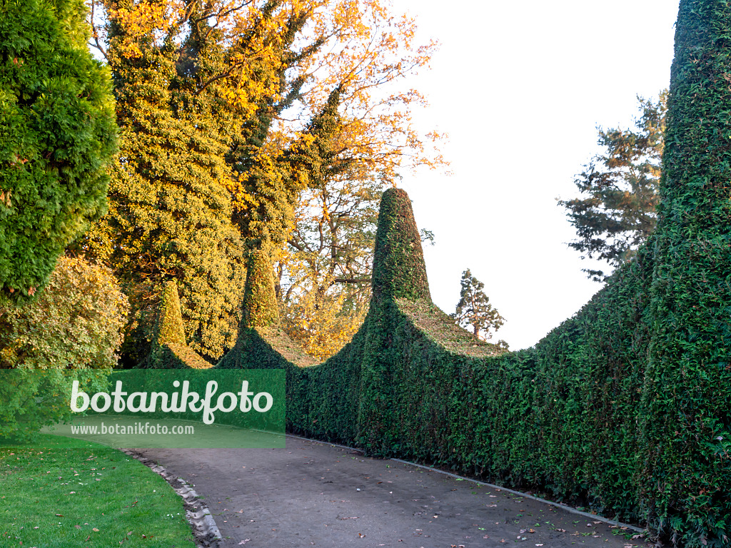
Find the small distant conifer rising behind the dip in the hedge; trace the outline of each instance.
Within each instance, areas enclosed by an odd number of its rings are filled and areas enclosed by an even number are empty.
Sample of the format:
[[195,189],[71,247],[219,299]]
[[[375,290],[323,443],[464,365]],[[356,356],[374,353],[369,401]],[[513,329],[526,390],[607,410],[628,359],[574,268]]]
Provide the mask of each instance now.
[[[469,268],[465,270],[462,273],[459,302],[451,316],[460,327],[471,330],[475,337],[488,340],[493,336],[491,330],[499,330],[505,319],[490,304],[490,298],[483,289],[485,284],[475,278]],[[507,345],[504,346],[507,348]]]

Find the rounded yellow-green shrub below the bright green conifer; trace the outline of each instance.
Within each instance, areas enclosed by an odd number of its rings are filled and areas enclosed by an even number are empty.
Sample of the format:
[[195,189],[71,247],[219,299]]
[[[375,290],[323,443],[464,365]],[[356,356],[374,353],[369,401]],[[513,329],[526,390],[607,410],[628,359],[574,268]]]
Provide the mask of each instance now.
[[0,382],[0,436],[34,435],[69,414],[54,397],[66,384],[61,372],[105,376],[116,364],[127,306],[107,268],[61,256],[37,300],[0,307],[0,373],[21,370]]

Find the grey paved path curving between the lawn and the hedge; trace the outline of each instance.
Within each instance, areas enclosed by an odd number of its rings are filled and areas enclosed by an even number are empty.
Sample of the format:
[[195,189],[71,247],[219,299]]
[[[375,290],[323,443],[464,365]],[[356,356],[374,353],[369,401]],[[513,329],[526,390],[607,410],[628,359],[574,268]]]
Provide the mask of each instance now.
[[301,438],[286,449],[140,452],[205,497],[223,548],[645,546],[546,503]]

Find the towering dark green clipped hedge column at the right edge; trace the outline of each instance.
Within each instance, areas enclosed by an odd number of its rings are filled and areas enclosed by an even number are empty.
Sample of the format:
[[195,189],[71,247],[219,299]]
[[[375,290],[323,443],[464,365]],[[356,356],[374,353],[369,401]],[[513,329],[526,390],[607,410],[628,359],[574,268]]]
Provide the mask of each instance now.
[[642,425],[659,533],[731,531],[731,4],[682,0],[668,97]]

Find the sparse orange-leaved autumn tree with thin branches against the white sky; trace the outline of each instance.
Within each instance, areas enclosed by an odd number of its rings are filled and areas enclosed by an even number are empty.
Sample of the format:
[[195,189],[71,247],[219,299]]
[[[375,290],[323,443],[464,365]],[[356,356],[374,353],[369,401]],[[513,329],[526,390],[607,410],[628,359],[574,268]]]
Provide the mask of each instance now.
[[342,122],[339,163],[344,155],[357,156],[386,184],[398,179],[401,167],[442,163],[429,150],[440,136],[421,136],[412,127],[412,108],[425,104],[423,96],[394,85],[428,63],[434,44],[415,46],[414,21],[393,16],[377,0],[307,5],[307,24],[292,18],[287,26],[287,39],[300,31],[300,47],[281,57],[289,77],[281,77],[276,100],[262,104],[235,150],[236,218],[257,246],[287,241],[300,193],[317,185],[323,164],[313,148],[322,139],[314,137],[312,123],[333,108],[333,94]]

